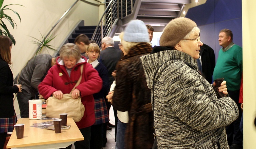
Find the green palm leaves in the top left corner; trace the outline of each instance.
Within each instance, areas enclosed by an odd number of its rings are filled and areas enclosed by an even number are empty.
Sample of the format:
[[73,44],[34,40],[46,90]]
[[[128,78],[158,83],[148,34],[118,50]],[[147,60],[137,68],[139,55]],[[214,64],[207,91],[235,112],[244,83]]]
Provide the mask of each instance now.
[[7,26],[4,24],[3,20],[4,19],[8,20],[9,23],[12,25],[13,29],[14,29],[15,26],[17,27],[17,24],[15,23],[15,21],[9,15],[7,15],[5,13],[5,10],[10,10],[13,13],[15,13],[18,16],[19,21],[21,21],[19,14],[16,11],[14,11],[14,10],[8,8],[8,7],[10,5],[19,5],[19,6],[23,6],[23,5],[20,5],[20,4],[9,4],[9,5],[4,5],[3,6],[3,1],[4,0],[0,0],[0,8],[1,8],[0,9],[0,26],[2,27],[2,29],[0,29],[0,35],[8,36],[12,40],[13,44],[15,45],[16,41],[15,41],[13,35],[8,30]]

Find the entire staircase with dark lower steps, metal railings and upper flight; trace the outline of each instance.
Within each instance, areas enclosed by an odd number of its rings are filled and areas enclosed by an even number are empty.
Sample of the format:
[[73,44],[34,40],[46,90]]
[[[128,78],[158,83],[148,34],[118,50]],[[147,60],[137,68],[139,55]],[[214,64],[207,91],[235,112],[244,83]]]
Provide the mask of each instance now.
[[97,26],[79,27],[68,41],[74,43],[79,34],[86,34],[100,46],[103,37],[122,32],[132,19],[140,19],[152,25],[154,31],[162,31],[170,20],[181,16],[189,3],[191,0],[111,0]]

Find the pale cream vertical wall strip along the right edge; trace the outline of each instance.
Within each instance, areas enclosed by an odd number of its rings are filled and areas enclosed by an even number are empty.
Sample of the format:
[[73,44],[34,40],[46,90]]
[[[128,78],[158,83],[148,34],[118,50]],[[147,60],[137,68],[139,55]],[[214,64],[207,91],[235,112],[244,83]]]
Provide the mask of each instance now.
[[256,1],[242,0],[243,30],[243,134],[244,149],[256,148]]

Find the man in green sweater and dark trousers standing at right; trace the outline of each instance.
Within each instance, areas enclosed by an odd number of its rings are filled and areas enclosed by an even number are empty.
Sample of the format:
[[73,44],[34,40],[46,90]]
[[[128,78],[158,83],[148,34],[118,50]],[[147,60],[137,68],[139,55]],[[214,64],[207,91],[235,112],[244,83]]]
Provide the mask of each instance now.
[[219,32],[218,41],[219,45],[223,48],[219,50],[213,79],[225,78],[228,94],[237,103],[239,117],[226,126],[226,133],[230,149],[242,149],[243,134],[239,129],[242,110],[241,105],[238,103],[243,70],[242,47],[233,43],[233,34],[229,29],[223,29]]

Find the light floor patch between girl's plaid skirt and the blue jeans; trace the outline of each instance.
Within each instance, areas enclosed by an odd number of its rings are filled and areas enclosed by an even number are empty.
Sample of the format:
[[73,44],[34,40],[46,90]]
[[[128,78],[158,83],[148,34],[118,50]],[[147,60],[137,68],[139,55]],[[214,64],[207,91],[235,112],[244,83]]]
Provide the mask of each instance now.
[[[113,107],[111,106],[109,110],[109,118],[110,123],[115,124],[115,117],[113,112]],[[115,128],[112,128],[112,130],[107,130],[107,139],[108,142],[106,143],[106,147],[103,147],[103,149],[115,149]]]

